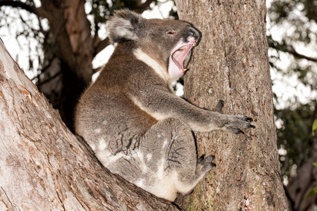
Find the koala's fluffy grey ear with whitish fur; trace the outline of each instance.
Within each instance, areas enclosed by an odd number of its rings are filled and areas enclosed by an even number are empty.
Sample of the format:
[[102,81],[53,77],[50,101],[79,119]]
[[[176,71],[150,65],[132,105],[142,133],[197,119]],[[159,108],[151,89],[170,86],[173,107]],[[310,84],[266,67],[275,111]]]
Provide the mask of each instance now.
[[118,11],[108,21],[108,36],[113,43],[139,39],[144,18],[129,10]]

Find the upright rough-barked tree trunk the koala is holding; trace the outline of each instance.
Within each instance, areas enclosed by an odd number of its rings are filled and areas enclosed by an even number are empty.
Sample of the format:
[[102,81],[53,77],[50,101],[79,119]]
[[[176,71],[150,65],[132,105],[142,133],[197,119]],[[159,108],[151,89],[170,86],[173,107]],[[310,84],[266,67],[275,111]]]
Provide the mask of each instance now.
[[198,154],[216,155],[217,167],[177,203],[185,210],[287,210],[278,161],[265,1],[177,0],[180,19],[202,40],[185,76],[185,98],[223,113],[247,115],[245,134],[198,133]]

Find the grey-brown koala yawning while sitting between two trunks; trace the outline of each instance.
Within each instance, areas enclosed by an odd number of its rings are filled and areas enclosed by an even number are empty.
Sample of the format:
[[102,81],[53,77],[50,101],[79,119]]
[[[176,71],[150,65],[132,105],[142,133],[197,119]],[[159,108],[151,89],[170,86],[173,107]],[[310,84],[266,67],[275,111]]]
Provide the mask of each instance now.
[[252,119],[173,94],[170,84],[187,70],[201,39],[192,24],[123,10],[109,20],[108,37],[116,48],[77,104],[75,132],[113,174],[173,202],[215,166],[212,155],[197,158],[192,132],[239,134],[254,127]]

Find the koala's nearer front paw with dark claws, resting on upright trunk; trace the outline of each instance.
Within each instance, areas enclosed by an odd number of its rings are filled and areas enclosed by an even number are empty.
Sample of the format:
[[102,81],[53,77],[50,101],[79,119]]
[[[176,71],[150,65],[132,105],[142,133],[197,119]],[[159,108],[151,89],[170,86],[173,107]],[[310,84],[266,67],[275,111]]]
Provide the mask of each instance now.
[[242,129],[255,128],[250,122],[252,118],[243,115],[224,115],[225,120],[220,121],[220,129],[232,132],[234,134],[244,134]]

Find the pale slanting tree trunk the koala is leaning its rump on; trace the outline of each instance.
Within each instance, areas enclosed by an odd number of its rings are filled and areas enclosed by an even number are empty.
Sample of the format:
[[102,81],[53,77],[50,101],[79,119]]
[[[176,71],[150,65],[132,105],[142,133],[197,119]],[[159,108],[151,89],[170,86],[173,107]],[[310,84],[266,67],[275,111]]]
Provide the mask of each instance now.
[[0,210],[177,210],[94,158],[0,39]]

